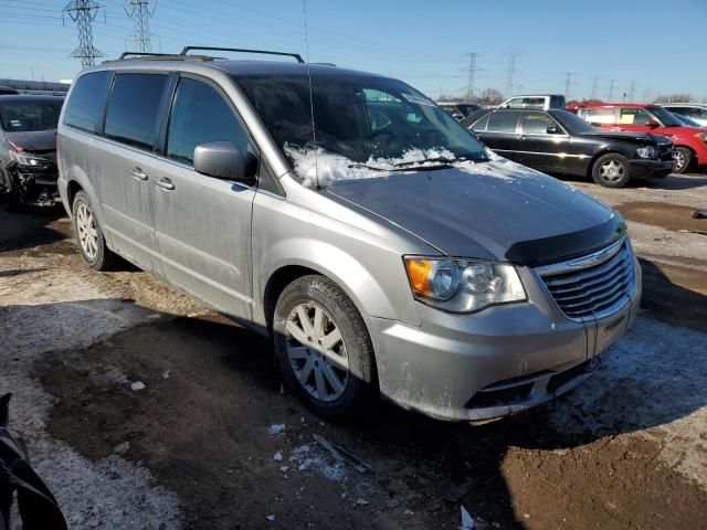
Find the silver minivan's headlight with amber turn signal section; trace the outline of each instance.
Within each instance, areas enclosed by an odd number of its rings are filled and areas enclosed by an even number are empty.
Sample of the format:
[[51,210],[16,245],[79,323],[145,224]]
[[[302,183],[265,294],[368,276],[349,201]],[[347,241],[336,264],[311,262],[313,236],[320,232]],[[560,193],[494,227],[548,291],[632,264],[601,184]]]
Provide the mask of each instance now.
[[414,297],[452,312],[473,312],[496,304],[524,301],[526,292],[507,263],[405,256]]

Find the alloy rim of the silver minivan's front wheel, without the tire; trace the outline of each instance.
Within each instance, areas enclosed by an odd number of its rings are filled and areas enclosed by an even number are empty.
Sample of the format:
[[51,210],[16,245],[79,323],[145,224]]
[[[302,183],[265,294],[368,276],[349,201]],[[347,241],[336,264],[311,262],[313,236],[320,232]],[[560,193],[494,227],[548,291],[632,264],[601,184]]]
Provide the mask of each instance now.
[[349,380],[341,331],[318,304],[297,305],[285,325],[287,359],[297,382],[320,401],[336,401]]

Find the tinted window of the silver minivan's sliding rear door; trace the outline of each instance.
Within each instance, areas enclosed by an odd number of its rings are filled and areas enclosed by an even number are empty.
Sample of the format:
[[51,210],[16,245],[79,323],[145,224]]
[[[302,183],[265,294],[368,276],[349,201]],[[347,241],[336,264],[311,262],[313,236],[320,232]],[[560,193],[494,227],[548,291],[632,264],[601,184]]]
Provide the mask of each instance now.
[[166,75],[116,75],[106,113],[105,135],[131,146],[150,148],[166,85]]

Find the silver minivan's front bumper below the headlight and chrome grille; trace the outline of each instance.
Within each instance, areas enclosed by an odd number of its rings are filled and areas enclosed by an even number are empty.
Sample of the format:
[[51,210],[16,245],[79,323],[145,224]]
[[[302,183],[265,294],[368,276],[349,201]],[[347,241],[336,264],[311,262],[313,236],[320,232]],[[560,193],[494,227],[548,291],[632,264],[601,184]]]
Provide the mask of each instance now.
[[639,311],[640,267],[631,299],[590,322],[567,318],[532,271],[519,273],[528,290],[524,304],[465,316],[420,305],[420,327],[369,318],[381,394],[440,420],[515,414],[577,386]]

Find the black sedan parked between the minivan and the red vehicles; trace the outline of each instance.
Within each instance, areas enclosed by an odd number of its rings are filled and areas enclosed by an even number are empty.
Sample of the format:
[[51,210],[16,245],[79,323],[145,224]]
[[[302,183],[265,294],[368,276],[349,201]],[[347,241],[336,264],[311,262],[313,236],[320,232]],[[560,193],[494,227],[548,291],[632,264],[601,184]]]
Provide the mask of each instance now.
[[504,158],[546,173],[591,176],[608,188],[673,170],[667,138],[605,131],[568,110],[493,109],[461,123]]

